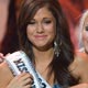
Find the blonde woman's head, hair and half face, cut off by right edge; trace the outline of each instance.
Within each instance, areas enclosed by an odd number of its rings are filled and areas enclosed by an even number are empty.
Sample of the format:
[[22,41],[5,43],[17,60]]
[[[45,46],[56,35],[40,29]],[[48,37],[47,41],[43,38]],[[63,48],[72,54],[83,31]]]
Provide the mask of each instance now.
[[86,53],[88,55],[88,10],[86,10],[80,19],[78,29],[79,38],[79,52]]

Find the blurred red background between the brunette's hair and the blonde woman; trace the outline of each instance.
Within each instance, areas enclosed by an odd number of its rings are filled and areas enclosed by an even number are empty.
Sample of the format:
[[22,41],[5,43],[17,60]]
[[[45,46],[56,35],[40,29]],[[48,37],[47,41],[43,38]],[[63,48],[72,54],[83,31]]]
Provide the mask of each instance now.
[[76,48],[78,48],[78,24],[84,11],[88,9],[88,0],[58,0],[68,20],[72,40]]

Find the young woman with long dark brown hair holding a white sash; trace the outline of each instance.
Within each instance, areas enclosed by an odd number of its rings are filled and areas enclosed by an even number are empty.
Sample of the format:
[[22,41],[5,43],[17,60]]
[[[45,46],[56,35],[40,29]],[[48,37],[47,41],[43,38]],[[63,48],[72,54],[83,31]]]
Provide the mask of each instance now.
[[[57,0],[23,0],[18,28],[20,48],[51,88],[68,88],[79,82],[69,70],[75,58],[74,46]],[[31,74],[22,73],[13,77],[6,62],[0,66],[0,74],[6,73],[4,69],[9,73],[8,77],[4,76],[9,80],[6,80],[4,88],[32,87]]]

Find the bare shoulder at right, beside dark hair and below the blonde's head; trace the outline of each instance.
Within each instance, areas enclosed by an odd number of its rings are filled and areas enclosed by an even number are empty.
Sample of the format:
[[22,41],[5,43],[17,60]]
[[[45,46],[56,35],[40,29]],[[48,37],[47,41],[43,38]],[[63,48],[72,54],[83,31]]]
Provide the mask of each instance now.
[[80,82],[88,82],[88,55],[76,52],[75,61],[69,69],[73,75],[80,77]]

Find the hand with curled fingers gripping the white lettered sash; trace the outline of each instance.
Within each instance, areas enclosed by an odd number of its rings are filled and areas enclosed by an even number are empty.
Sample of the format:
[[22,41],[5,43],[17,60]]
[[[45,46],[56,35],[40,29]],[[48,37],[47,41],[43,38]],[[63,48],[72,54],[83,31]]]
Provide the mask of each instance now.
[[15,76],[7,88],[32,88],[33,77],[29,73]]

